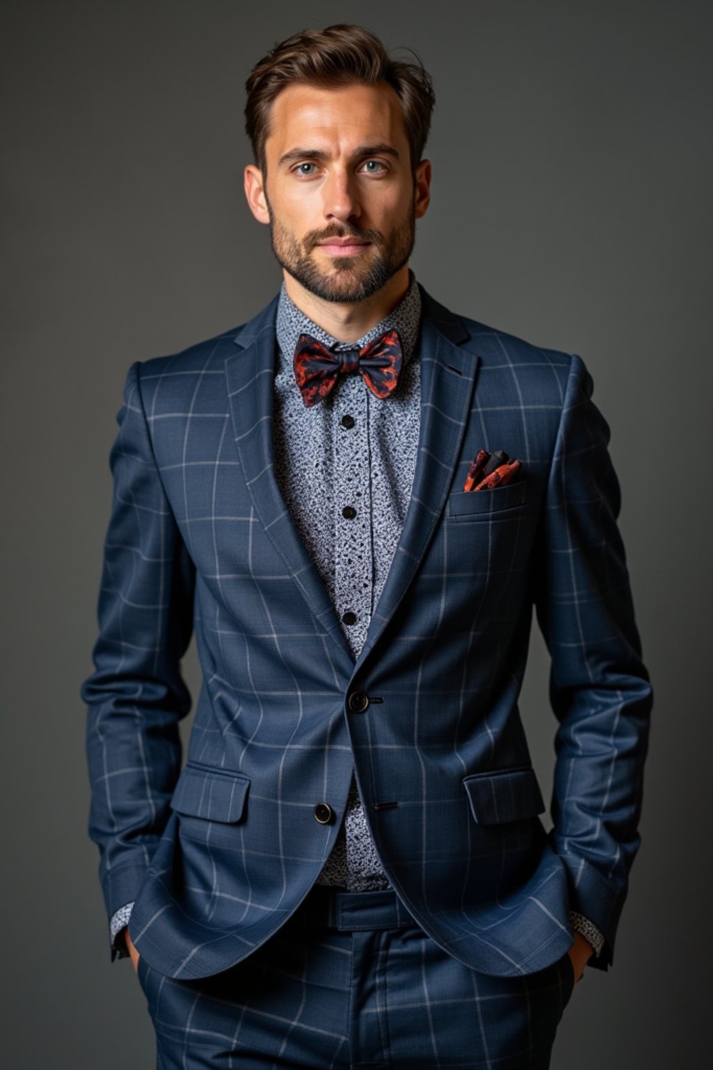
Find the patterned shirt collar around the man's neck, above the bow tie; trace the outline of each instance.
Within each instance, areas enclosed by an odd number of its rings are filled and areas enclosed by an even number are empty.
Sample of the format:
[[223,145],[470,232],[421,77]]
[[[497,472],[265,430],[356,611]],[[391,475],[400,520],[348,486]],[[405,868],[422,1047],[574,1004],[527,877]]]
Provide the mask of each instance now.
[[421,291],[418,288],[413,272],[410,273],[410,286],[397,307],[388,316],[385,316],[376,326],[367,332],[362,338],[354,342],[340,342],[316,323],[313,323],[309,316],[300,311],[290,300],[283,282],[277,307],[275,333],[277,335],[277,343],[280,348],[281,360],[292,367],[292,354],[301,334],[309,334],[329,348],[347,350],[362,349],[370,341],[373,341],[374,338],[378,338],[379,335],[385,334],[387,331],[396,330],[399,332],[399,337],[401,338],[401,349],[405,364],[414,352],[420,319]]

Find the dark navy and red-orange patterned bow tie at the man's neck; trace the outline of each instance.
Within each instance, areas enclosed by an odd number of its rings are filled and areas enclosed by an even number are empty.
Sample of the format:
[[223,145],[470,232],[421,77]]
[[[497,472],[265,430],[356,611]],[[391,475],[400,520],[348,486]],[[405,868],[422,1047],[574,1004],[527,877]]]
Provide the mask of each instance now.
[[403,356],[398,331],[387,331],[363,349],[345,352],[327,349],[311,335],[300,335],[295,347],[293,367],[303,401],[309,408],[326,398],[338,376],[359,372],[377,398],[396,388]]

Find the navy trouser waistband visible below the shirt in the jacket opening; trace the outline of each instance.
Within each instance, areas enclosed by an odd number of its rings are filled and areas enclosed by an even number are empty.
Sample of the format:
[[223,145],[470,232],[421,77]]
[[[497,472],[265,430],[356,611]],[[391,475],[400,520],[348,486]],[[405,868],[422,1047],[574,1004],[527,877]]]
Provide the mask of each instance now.
[[303,903],[305,923],[322,929],[407,929],[414,918],[396,891],[331,891],[315,885]]

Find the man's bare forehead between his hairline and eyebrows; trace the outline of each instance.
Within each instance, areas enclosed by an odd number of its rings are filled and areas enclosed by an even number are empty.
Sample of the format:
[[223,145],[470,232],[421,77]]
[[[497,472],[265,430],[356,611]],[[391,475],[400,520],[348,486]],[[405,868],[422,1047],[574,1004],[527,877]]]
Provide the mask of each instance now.
[[408,147],[399,97],[387,82],[339,89],[296,83],[273,102],[265,152],[279,158],[294,148],[347,152],[382,143],[400,154]]

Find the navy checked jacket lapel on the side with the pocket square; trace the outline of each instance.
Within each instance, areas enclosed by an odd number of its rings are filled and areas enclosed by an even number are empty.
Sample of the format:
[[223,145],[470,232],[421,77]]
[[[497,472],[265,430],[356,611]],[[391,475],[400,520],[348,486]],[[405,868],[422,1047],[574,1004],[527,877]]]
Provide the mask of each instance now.
[[410,502],[358,669],[413,580],[443,514],[470,411],[480,358],[460,343],[462,321],[421,288],[421,426]]

